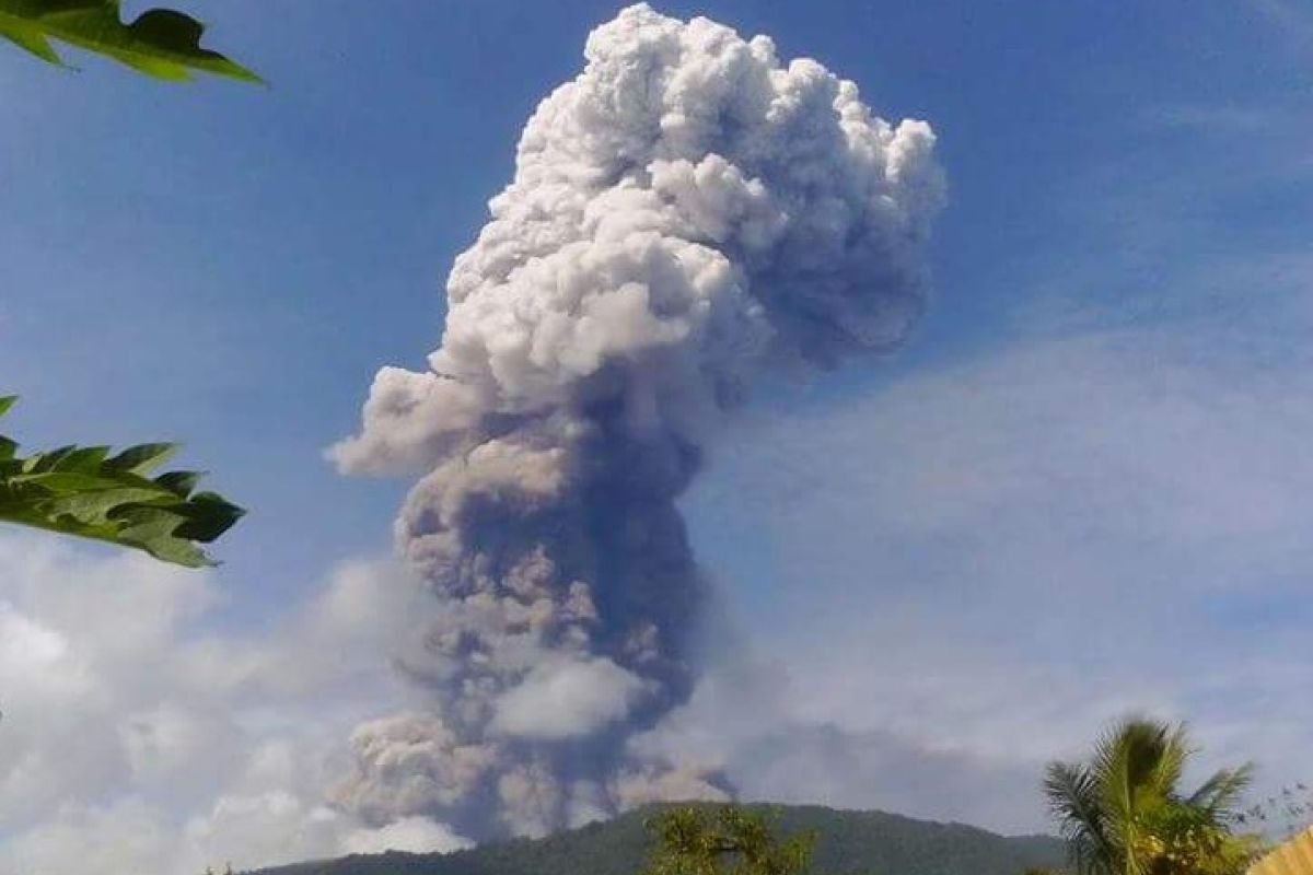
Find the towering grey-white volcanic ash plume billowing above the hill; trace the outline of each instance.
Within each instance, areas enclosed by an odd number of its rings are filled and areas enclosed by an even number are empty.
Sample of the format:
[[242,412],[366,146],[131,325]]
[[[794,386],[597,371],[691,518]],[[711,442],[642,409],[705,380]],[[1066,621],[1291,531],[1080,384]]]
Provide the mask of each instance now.
[[446,283],[429,370],[381,370],[347,471],[424,472],[397,522],[435,619],[425,707],[356,732],[374,823],[538,834],[723,796],[629,741],[689,695],[708,596],[676,500],[754,375],[899,342],[943,178],[814,60],[647,5],[595,30]]

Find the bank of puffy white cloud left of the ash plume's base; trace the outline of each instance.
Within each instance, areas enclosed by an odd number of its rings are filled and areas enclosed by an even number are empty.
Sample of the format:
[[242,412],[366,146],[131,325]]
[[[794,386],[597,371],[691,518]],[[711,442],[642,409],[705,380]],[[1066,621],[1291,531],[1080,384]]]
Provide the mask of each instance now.
[[0,538],[0,871],[143,875],[460,845],[328,808],[349,727],[395,707],[418,589],[334,569],[263,634],[219,632],[215,572]]

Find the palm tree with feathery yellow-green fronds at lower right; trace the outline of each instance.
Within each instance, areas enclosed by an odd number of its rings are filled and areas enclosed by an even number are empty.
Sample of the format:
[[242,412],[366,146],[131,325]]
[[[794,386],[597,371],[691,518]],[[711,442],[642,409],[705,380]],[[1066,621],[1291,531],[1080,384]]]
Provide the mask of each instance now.
[[1052,762],[1044,791],[1079,875],[1238,875],[1251,837],[1232,833],[1253,767],[1222,769],[1179,790],[1186,727],[1128,718],[1086,763]]

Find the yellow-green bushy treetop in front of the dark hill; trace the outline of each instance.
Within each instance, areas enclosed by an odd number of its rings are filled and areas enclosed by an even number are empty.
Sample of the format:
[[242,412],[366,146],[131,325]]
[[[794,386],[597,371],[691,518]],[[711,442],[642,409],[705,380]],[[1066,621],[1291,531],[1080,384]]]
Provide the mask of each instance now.
[[647,823],[654,838],[643,875],[801,875],[815,833],[776,838],[762,813],[687,805]]

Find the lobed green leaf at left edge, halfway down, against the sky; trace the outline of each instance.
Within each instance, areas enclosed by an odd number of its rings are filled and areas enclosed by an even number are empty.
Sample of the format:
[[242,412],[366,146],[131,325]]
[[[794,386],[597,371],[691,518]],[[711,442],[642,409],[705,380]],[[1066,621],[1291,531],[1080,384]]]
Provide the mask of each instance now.
[[[14,397],[0,397],[0,417]],[[67,446],[20,457],[0,436],[0,522],[49,529],[190,568],[214,564],[210,543],[246,513],[213,492],[193,492],[194,471],[151,478],[177,447],[146,443],[110,455],[106,446]]]

